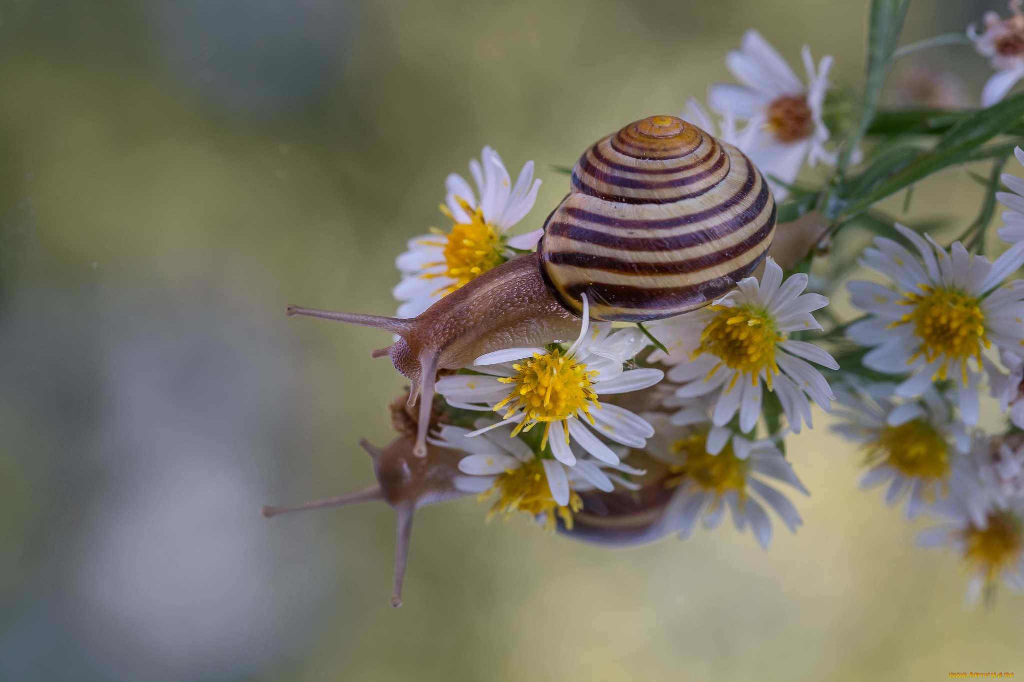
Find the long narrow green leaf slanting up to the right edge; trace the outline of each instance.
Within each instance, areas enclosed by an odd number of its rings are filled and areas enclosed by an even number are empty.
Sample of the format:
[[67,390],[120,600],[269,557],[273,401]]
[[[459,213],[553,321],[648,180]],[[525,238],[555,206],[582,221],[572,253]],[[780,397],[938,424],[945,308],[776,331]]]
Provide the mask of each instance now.
[[1002,133],[1024,117],[1024,93],[1008,97],[998,104],[975,112],[961,121],[938,143],[915,161],[907,164],[865,196],[853,201],[839,214],[845,218],[860,213],[872,203],[895,194],[933,173],[956,164],[977,161],[972,152]]

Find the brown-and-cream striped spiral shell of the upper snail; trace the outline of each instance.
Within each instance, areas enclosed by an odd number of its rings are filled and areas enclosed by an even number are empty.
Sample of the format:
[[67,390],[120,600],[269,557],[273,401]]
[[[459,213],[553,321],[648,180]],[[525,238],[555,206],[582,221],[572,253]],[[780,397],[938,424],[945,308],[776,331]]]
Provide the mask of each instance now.
[[539,246],[570,311],[640,322],[707,305],[751,274],[775,234],[775,201],[737,148],[681,119],[637,121],[594,144]]

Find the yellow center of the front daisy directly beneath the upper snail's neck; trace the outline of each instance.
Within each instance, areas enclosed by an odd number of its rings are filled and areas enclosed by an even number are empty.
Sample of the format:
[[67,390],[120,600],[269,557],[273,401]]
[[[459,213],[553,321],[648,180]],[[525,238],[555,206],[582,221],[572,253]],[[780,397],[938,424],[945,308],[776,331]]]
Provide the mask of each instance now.
[[[596,370],[588,370],[587,365],[580,364],[569,357],[563,357],[557,349],[548,355],[535,353],[529,360],[512,365],[515,376],[498,379],[503,383],[514,383],[515,389],[508,398],[495,405],[495,410],[508,407],[505,418],[508,419],[518,411],[523,411],[526,417],[512,431],[516,436],[520,430],[529,430],[538,422],[546,422],[543,449],[548,443],[548,429],[552,421],[561,421],[569,416],[580,416],[581,412],[594,423],[590,416],[590,407],[600,409],[597,394],[590,388]],[[568,430],[565,431],[568,442]]]

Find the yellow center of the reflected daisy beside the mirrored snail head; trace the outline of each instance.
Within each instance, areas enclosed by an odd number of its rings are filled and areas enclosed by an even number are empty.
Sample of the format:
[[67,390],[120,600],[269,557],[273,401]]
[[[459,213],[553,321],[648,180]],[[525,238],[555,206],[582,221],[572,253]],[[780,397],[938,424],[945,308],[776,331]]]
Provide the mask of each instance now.
[[480,501],[495,492],[499,497],[487,512],[487,520],[494,518],[496,514],[503,514],[504,519],[508,520],[516,511],[522,511],[530,516],[546,514],[544,528],[546,531],[554,531],[557,514],[565,524],[565,528],[571,530],[572,512],[583,508],[583,500],[575,491],[569,493],[568,506],[555,502],[548,487],[544,464],[540,459],[531,459],[518,468],[506,469],[504,473],[499,473],[495,479],[495,485],[480,495]]

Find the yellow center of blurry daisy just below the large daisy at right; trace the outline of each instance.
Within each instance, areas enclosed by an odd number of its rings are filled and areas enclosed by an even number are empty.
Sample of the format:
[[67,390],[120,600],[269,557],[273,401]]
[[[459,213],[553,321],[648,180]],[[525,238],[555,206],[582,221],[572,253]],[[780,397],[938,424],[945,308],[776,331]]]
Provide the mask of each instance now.
[[867,463],[885,462],[905,476],[933,482],[949,475],[949,448],[945,438],[924,419],[899,426],[883,426],[867,446]]

